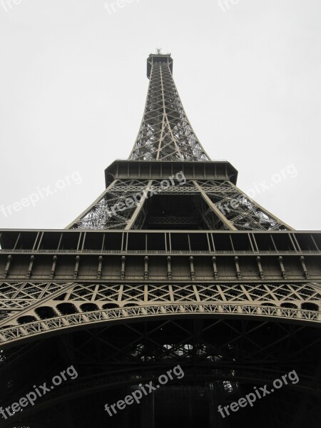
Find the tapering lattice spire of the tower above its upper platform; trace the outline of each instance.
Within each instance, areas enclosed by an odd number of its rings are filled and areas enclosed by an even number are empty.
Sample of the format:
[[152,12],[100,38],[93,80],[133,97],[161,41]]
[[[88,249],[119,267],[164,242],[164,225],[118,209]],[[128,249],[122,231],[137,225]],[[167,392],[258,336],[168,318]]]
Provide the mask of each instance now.
[[137,161],[210,161],[193,131],[173,80],[170,54],[147,59],[150,79],[141,127],[129,156]]

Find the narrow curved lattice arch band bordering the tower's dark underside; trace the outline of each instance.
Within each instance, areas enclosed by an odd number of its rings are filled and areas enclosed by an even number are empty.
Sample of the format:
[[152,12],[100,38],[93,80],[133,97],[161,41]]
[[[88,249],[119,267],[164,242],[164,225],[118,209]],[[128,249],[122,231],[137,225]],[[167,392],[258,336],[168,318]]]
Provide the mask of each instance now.
[[[78,303],[78,305],[77,305]],[[250,303],[170,303],[153,304],[143,306],[119,307],[119,309],[104,309],[94,311],[81,310],[82,302],[72,302],[73,314],[61,315],[49,319],[34,320],[33,310],[24,311],[21,314],[12,315],[9,320],[1,323],[0,343],[1,345],[16,345],[21,340],[31,340],[39,335],[59,334],[60,332],[86,326],[106,325],[108,322],[115,323],[128,320],[158,319],[160,317],[249,317],[259,320],[290,320],[298,323],[321,323],[321,312],[312,310],[289,309],[287,307],[275,307],[270,305],[258,305]],[[57,305],[57,303],[56,303]],[[41,309],[41,303],[36,305]],[[77,308],[78,306],[78,308]],[[59,307],[57,305],[57,307]],[[77,310],[78,309],[78,310]],[[24,318],[26,317],[26,318]],[[7,327],[9,323],[10,327]]]

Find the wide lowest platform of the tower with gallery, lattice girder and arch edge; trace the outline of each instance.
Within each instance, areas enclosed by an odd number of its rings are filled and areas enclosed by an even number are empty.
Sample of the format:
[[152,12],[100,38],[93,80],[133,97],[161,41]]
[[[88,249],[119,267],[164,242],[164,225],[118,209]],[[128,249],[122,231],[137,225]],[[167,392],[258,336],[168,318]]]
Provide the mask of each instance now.
[[321,233],[13,230],[1,240],[3,344],[176,315],[321,321]]

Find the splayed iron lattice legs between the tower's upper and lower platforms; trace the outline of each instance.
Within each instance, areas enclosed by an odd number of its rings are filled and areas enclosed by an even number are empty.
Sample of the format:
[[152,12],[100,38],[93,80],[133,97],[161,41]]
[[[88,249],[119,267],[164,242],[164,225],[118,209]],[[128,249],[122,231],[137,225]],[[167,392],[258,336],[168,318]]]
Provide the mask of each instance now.
[[[137,178],[114,180],[98,200],[69,228],[88,230],[146,228],[146,215],[151,198],[175,195],[193,198],[197,218],[180,218],[178,215],[158,217],[156,224],[183,223],[190,228],[197,224],[208,230],[291,230],[282,220],[255,203],[228,180],[186,180],[183,185],[164,188],[158,180]],[[232,201],[232,203],[231,203]],[[121,210],[118,209],[121,207]],[[175,220],[176,218],[176,220]]]

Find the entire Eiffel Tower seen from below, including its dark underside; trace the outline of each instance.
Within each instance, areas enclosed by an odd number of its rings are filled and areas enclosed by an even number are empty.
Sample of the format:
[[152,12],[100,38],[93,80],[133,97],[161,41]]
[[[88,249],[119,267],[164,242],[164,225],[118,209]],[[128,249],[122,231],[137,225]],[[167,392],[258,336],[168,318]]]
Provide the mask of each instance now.
[[0,230],[0,427],[320,427],[321,233],[293,230],[210,160],[170,54],[151,54],[147,76],[103,194],[66,229]]

